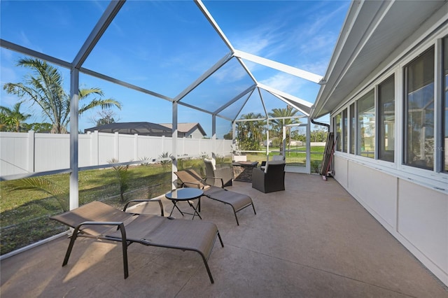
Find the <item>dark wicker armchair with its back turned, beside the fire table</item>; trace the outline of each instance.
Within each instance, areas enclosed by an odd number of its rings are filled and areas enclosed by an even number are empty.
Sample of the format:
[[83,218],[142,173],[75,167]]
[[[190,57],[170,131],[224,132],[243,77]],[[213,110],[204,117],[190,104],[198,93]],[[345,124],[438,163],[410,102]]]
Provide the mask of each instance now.
[[285,165],[282,160],[271,160],[264,170],[253,169],[252,187],[264,193],[285,190]]

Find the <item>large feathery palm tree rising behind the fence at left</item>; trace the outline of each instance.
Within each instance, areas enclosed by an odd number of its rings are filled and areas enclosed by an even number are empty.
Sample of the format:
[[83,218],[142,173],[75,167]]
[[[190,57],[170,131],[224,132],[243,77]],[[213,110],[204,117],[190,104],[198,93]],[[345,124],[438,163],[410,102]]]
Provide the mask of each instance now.
[[[45,61],[33,58],[20,59],[18,66],[31,69],[33,74],[25,76],[24,83],[6,83],[3,85],[3,90],[40,106],[44,118],[48,118],[52,123],[51,133],[66,133],[66,127],[70,122],[71,98],[62,87],[63,80],[59,70]],[[89,88],[80,89],[78,95],[78,100],[81,102],[87,97],[102,97],[104,94],[99,88]],[[121,108],[120,103],[114,99],[94,98],[89,104],[80,106],[79,115],[97,106]]]

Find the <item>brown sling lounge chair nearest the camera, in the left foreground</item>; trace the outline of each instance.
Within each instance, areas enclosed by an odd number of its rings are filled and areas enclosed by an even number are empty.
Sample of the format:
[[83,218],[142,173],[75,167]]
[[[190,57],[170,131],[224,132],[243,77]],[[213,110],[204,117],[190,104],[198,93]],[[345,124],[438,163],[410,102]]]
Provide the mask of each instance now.
[[162,216],[127,213],[125,212],[127,206],[125,206],[124,211],[120,211],[100,201],[92,201],[72,211],[50,217],[50,219],[62,222],[74,229],[62,267],[69,262],[76,238],[83,236],[121,242],[125,278],[129,276],[127,246],[136,242],[145,246],[196,251],[204,260],[211,283],[214,283],[207,260],[214,247],[216,236],[221,241],[221,246],[224,247],[218,227],[213,222],[202,220],[166,218],[163,216],[160,200],[138,201],[158,201]]

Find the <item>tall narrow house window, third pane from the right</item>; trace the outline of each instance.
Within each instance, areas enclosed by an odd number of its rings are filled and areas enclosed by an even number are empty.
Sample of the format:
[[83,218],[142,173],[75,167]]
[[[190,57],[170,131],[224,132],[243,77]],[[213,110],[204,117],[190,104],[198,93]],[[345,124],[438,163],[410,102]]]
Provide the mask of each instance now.
[[395,77],[378,86],[378,158],[393,162],[395,143]]

